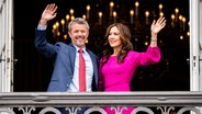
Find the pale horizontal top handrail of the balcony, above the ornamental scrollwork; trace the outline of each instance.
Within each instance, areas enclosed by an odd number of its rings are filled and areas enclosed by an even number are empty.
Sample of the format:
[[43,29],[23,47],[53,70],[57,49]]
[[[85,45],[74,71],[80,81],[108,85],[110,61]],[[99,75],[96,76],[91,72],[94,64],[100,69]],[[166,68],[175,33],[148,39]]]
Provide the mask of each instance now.
[[35,105],[183,105],[201,106],[202,92],[2,92],[0,106]]

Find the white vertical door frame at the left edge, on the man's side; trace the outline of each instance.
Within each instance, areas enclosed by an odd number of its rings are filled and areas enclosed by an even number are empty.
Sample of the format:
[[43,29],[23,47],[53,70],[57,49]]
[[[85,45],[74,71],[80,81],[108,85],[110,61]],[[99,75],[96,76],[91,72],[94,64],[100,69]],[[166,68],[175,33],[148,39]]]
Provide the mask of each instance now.
[[0,92],[12,90],[13,1],[0,1]]

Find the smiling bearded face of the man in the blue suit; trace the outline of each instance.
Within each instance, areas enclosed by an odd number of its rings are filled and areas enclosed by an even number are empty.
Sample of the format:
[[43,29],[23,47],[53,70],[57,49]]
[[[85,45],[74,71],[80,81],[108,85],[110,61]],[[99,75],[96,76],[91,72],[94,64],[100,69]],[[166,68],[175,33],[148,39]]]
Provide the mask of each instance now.
[[68,32],[71,37],[71,43],[78,46],[79,48],[85,47],[86,39],[88,38],[89,31],[86,24],[74,23],[71,25],[71,31]]

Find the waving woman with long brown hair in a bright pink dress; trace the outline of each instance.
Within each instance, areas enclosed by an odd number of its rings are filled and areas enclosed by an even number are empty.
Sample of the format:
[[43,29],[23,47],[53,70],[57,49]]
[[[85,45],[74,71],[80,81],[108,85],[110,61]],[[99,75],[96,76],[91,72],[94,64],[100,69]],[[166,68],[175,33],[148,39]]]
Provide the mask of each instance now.
[[[160,60],[160,49],[157,46],[157,34],[166,25],[165,18],[154,20],[150,31],[150,45],[144,53],[133,50],[131,32],[121,23],[110,25],[105,33],[106,43],[100,59],[99,89],[105,92],[130,91],[131,79],[138,66],[157,64]],[[110,107],[104,109],[108,114],[115,114]],[[122,114],[131,114],[134,107],[123,110]]]

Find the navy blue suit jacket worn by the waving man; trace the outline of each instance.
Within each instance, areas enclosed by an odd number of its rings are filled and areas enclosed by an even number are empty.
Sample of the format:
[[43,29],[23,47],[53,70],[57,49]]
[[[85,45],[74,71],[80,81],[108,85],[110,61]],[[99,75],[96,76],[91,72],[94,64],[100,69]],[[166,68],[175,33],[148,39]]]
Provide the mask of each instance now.
[[[35,30],[35,47],[47,58],[54,61],[54,71],[47,91],[65,92],[72,81],[76,48],[72,44],[61,42],[55,45],[47,43],[46,31]],[[98,90],[99,58],[91,50],[89,53],[93,65],[92,91]]]

